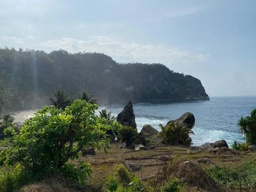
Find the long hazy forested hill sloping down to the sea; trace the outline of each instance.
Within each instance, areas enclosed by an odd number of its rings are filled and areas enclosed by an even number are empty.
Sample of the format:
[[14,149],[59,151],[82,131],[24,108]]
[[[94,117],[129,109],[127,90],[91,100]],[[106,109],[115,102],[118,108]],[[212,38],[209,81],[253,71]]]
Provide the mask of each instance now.
[[209,100],[201,82],[161,64],[119,64],[102,53],[0,49],[0,113],[41,107],[58,89],[99,103]]

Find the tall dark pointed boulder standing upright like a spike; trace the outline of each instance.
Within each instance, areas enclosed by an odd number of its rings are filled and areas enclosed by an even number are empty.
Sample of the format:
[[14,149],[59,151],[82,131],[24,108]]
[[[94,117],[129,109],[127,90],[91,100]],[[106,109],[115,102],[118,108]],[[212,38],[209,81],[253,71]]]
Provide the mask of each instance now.
[[122,125],[134,127],[134,129],[137,129],[137,124],[135,123],[135,115],[133,113],[132,101],[129,101],[122,112],[117,115],[116,121]]

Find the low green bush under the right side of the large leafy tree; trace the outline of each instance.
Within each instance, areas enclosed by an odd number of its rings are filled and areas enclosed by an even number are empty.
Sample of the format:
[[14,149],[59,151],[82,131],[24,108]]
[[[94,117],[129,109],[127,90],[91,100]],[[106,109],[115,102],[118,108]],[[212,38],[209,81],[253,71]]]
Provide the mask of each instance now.
[[85,185],[87,178],[91,175],[92,169],[91,164],[80,162],[77,167],[74,164],[65,164],[59,169],[60,174],[78,183]]

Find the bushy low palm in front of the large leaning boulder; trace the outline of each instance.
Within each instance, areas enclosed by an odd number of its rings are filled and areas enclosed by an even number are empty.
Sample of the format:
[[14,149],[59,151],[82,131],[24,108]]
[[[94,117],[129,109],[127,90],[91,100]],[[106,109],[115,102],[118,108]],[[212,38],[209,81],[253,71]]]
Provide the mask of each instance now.
[[158,134],[163,137],[167,145],[191,145],[192,139],[189,134],[194,134],[185,124],[180,122],[170,122],[163,126],[159,124],[161,132]]

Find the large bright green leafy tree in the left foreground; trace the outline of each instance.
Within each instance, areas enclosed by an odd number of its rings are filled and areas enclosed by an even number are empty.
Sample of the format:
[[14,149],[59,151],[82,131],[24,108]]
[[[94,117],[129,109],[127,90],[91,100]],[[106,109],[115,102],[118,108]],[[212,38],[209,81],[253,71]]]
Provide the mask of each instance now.
[[64,110],[53,106],[38,110],[12,137],[10,147],[2,150],[0,163],[19,162],[35,173],[54,171],[77,158],[83,147],[108,147],[109,125],[94,115],[95,109],[97,105],[74,100]]

